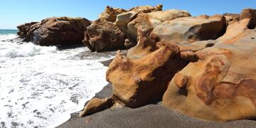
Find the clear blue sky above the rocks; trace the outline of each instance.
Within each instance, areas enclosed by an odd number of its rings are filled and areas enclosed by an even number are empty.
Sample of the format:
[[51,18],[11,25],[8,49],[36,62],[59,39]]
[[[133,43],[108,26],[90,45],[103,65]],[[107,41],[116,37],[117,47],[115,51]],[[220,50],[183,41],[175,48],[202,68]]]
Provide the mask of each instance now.
[[240,13],[244,8],[256,9],[256,0],[1,0],[0,29],[41,21],[51,16],[97,19],[105,6],[129,9],[133,6],[163,4],[166,9],[182,9],[193,16],[201,14]]

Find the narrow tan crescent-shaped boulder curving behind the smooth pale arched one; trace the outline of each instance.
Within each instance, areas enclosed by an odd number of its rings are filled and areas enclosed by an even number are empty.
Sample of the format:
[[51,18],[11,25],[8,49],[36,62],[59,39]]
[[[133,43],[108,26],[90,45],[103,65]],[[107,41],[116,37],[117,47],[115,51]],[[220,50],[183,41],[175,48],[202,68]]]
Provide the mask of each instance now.
[[136,42],[136,38],[132,38],[132,36],[127,33],[127,25],[130,21],[136,18],[139,14],[142,13],[150,13],[153,11],[161,11],[163,8],[162,5],[158,6],[137,6],[132,9],[129,9],[126,13],[117,15],[117,19],[114,22],[120,30],[129,38],[130,41]]

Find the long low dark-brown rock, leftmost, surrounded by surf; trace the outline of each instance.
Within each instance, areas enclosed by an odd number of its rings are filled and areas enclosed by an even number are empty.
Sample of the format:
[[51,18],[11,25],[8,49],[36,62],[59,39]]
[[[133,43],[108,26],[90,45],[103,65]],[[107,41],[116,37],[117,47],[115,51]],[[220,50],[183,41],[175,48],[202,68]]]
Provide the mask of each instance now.
[[18,36],[40,46],[82,44],[84,31],[90,26],[85,18],[53,17],[40,23],[18,26]]

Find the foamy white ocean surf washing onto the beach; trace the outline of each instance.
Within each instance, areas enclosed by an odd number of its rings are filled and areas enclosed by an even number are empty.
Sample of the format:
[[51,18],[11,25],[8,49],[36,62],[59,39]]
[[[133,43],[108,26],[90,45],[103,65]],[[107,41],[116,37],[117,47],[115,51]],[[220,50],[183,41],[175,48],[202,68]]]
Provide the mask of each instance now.
[[0,127],[56,127],[107,85],[99,62],[112,55],[8,42],[16,37],[0,30]]

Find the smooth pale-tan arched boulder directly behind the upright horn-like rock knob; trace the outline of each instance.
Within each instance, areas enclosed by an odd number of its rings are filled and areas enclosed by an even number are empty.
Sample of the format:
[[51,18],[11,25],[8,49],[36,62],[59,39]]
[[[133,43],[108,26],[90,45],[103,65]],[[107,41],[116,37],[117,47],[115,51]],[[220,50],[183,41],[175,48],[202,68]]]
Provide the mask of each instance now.
[[127,33],[136,40],[138,26],[144,26],[145,28],[153,30],[153,28],[156,28],[156,26],[159,26],[164,21],[170,21],[174,18],[185,16],[191,16],[191,14],[189,14],[188,11],[174,9],[139,14],[137,18],[134,18],[134,20],[128,23]]

